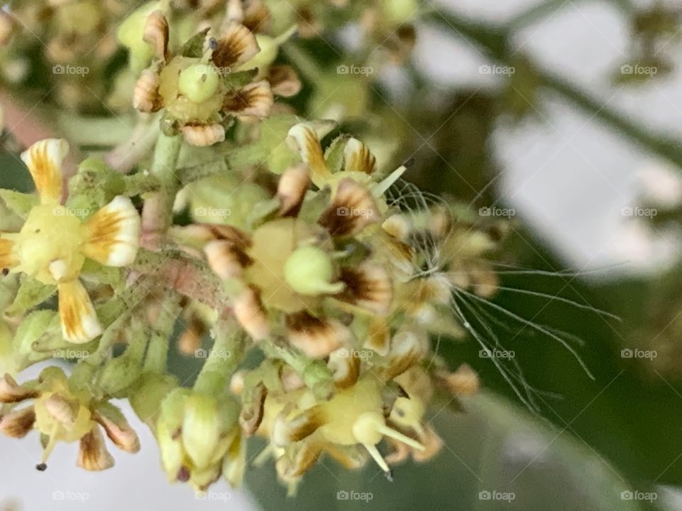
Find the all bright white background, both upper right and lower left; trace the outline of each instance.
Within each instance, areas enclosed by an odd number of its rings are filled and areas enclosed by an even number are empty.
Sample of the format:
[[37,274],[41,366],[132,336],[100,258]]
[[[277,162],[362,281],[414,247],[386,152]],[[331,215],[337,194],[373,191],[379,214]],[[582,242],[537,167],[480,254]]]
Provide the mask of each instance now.
[[[537,0],[450,0],[468,16],[504,21]],[[518,43],[539,62],[589,89],[609,106],[651,126],[682,136],[682,75],[644,88],[614,92],[609,76],[627,52],[624,18],[609,2],[567,1],[565,8],[519,35]],[[672,45],[672,43],[671,43]],[[670,50],[676,50],[671,46]],[[679,53],[679,52],[676,52]],[[487,62],[460,39],[443,40],[423,28],[415,59],[423,72],[445,86],[494,86],[480,75]],[[680,57],[676,57],[678,65]],[[490,62],[492,63],[492,62]],[[504,167],[499,194],[575,268],[625,263],[622,269],[656,268],[678,254],[671,236],[651,234],[626,223],[620,209],[635,204],[638,172],[660,167],[650,157],[607,128],[590,121],[573,106],[546,101],[544,123],[531,121],[510,129],[499,126],[496,150]],[[455,141],[456,143],[456,141]],[[661,180],[663,182],[663,180]],[[666,189],[674,187],[666,185]],[[26,377],[31,377],[32,371]],[[124,410],[125,411],[125,410]],[[168,485],[158,464],[158,451],[148,429],[126,414],[141,434],[142,451],[132,456],[112,447],[116,466],[104,473],[75,468],[77,446],[60,444],[50,468],[38,473],[38,436],[21,441],[0,437],[0,510],[13,498],[19,510],[226,509],[222,501],[197,502],[185,485]],[[227,485],[214,488],[232,510],[249,509],[244,495]],[[88,500],[55,500],[86,494]]]

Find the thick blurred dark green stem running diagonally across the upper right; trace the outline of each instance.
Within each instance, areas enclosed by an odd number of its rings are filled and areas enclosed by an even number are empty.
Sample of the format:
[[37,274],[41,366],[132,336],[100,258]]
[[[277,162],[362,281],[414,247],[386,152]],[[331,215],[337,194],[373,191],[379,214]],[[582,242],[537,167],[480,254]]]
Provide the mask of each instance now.
[[[476,43],[492,59],[505,65],[510,64],[509,60],[513,54],[509,51],[511,45],[507,29],[467,21],[456,15],[445,15],[440,12],[431,13],[428,18],[444,28],[454,29],[462,37]],[[592,97],[588,92],[580,90],[555,73],[543,70],[532,62],[531,68],[534,69],[541,87],[578,106],[590,119],[599,119],[645,150],[682,167],[682,143],[676,139],[632,122],[627,116],[607,108],[603,101]]]

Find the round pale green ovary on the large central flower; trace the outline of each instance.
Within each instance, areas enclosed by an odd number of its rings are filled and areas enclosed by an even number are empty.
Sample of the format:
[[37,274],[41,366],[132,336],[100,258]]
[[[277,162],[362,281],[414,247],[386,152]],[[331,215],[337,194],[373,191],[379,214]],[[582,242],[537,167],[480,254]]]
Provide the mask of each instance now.
[[284,263],[284,280],[301,295],[339,292],[343,284],[332,284],[333,276],[334,266],[330,256],[314,246],[296,248]]

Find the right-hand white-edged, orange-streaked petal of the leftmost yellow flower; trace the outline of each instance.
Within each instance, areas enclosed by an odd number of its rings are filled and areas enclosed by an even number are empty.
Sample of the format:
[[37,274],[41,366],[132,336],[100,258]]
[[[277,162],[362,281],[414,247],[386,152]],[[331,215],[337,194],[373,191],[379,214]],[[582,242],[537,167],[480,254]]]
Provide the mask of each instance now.
[[85,224],[83,253],[105,266],[131,264],[140,247],[140,215],[128,197],[114,197]]

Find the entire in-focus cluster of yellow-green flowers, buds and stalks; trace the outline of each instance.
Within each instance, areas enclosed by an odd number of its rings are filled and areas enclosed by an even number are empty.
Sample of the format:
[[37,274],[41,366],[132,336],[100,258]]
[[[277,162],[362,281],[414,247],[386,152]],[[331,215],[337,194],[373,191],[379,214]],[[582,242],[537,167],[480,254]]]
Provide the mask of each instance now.
[[[80,442],[79,466],[109,468],[103,432],[137,451],[109,402],[126,398],[169,480],[198,490],[221,477],[239,485],[249,436],[266,439],[259,458],[274,458],[291,493],[321,456],[349,469],[373,460],[391,476],[391,465],[440,451],[433,402],[477,390],[475,373],[448,370],[429,336],[461,333],[455,287],[492,294],[482,258],[494,239],[447,204],[421,207],[415,190],[396,198],[411,163],[383,172],[343,133],[324,148],[329,121],[288,115],[281,143],[237,165],[234,153],[268,145],[271,133],[252,126],[300,83],[273,65],[292,31],[259,35],[269,26],[261,2],[227,4],[219,29],[177,51],[163,2],[119,28],[139,67],[131,101],[142,116],[159,112],[151,163],[124,175],[88,158],[65,179],[69,146],[47,139],[21,155],[37,195],[0,190],[21,224],[0,233],[0,430],[38,429],[40,470],[59,441]],[[233,124],[241,134],[225,141]],[[178,168],[183,151],[219,165]],[[212,193],[216,178],[238,181],[238,204]],[[202,204],[229,215],[207,223],[193,211],[202,183]],[[191,388],[166,366],[178,318],[181,352],[212,339]],[[55,353],[77,358],[70,375],[48,367],[16,382]]]

